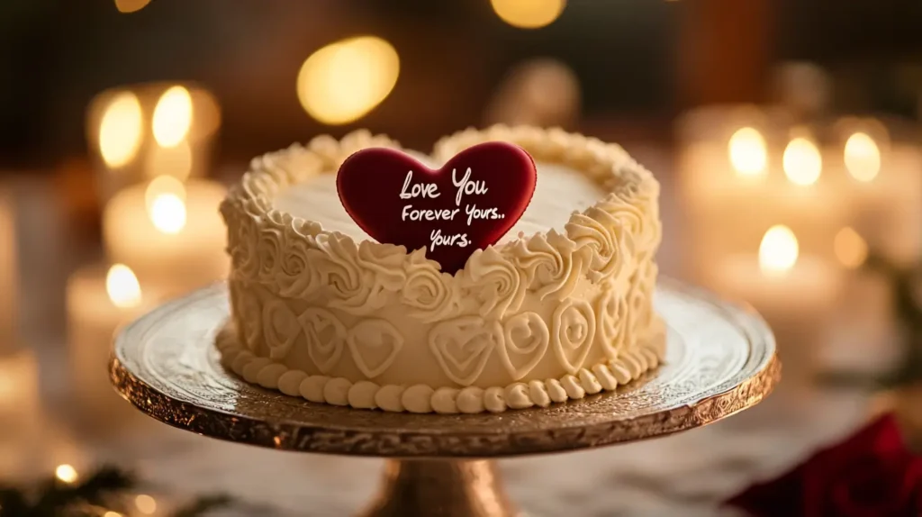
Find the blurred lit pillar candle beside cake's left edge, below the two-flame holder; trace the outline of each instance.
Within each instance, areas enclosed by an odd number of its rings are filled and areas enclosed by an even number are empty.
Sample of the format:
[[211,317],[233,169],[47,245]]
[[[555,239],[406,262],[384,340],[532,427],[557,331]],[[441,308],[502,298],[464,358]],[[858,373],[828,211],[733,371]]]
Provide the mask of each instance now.
[[225,189],[205,180],[155,178],[124,189],[102,216],[112,262],[131,267],[142,285],[171,294],[225,278],[225,229],[218,212]]

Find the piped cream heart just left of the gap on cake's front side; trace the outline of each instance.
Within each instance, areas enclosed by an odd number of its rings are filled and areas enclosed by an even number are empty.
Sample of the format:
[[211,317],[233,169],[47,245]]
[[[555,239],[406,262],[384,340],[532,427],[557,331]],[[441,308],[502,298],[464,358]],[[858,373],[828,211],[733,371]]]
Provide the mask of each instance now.
[[404,337],[386,320],[365,320],[349,329],[346,344],[356,367],[371,379],[394,364]]

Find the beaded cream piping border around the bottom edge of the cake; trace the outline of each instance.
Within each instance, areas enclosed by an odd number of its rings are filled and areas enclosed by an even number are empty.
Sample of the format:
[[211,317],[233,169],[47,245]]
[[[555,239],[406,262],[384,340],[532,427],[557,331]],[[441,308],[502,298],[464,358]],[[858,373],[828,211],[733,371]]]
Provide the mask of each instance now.
[[648,370],[659,366],[666,352],[666,335],[662,324],[654,325],[654,335],[610,363],[599,363],[591,369],[580,369],[576,375],[561,379],[514,382],[504,388],[433,389],[425,384],[380,386],[371,381],[351,382],[342,377],[308,375],[301,370],[269,358],[255,356],[240,346],[236,330],[229,320],[215,338],[221,365],[232,370],[246,382],[278,390],[290,396],[300,396],[316,403],[348,405],[356,409],[382,409],[409,413],[502,413],[507,409],[548,407],[587,394],[611,391],[636,380]]

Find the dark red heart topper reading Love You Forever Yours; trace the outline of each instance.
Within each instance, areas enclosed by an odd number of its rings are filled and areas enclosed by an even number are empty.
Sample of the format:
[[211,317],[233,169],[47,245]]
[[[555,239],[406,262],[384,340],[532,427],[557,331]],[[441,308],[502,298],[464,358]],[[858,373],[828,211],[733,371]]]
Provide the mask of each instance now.
[[525,212],[538,173],[525,149],[486,142],[431,170],[395,149],[362,149],[337,173],[339,200],[379,242],[426,249],[451,274]]

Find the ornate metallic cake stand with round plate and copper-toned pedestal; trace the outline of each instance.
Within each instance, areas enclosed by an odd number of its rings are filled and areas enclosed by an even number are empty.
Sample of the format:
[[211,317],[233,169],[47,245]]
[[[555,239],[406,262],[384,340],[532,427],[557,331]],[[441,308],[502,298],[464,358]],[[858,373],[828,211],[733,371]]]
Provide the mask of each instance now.
[[656,292],[667,362],[612,393],[500,415],[412,415],[317,405],[254,387],[219,364],[219,284],[168,303],[115,340],[115,389],[161,422],[292,452],[389,458],[366,516],[517,515],[492,458],[566,452],[693,429],[759,403],[780,378],[753,311],[671,280]]

